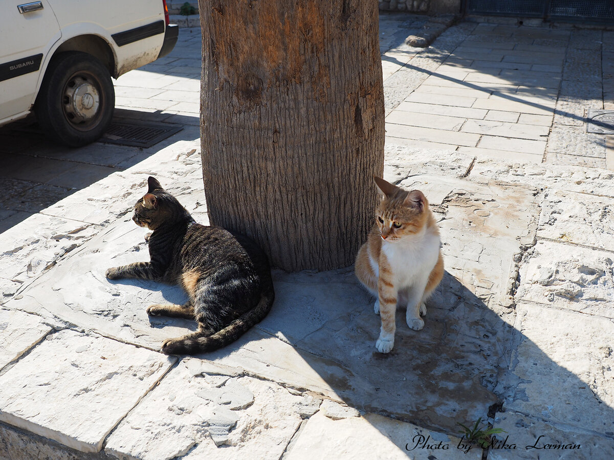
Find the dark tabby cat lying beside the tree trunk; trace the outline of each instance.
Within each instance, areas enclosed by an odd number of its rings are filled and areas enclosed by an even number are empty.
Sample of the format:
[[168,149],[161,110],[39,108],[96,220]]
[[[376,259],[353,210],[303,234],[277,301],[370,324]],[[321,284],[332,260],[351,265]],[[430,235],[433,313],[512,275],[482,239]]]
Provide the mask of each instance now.
[[110,268],[107,278],[140,278],[179,284],[184,305],[150,305],[149,315],[198,322],[198,330],[162,343],[168,355],[193,355],[234,342],[262,320],[274,299],[265,253],[251,239],[216,226],[197,224],[179,201],[149,177],[149,190],[132,219],[153,230],[146,237],[150,262]]

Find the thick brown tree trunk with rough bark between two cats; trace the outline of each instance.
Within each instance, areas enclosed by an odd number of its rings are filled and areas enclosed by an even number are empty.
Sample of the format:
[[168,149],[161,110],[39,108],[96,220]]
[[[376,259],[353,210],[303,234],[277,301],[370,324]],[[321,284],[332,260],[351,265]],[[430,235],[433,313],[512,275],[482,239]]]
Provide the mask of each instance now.
[[199,0],[211,223],[282,269],[351,265],[384,167],[375,0]]

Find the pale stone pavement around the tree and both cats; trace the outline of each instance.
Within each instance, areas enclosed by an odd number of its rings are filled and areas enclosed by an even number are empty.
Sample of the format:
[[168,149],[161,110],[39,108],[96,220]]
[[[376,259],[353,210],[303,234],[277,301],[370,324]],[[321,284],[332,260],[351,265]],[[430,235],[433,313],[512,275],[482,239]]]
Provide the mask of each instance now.
[[[352,267],[276,270],[238,342],[159,353],[194,324],[145,307],[184,294],[104,271],[147,259],[130,209],[150,174],[208,221],[196,121],[0,234],[0,458],[614,458],[612,143],[581,123],[613,102],[612,33],[462,22],[405,45],[424,21],[380,19],[385,177],[441,228],[425,328],[398,312],[381,355]],[[199,33],[180,37],[120,77],[120,106],[198,120]],[[505,430],[491,450],[460,438],[479,419]]]

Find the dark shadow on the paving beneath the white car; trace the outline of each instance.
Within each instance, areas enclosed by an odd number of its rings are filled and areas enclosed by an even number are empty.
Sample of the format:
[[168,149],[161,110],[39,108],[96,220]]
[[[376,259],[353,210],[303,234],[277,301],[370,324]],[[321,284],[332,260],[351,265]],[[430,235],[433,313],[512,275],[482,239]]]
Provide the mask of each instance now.
[[[173,123],[168,121],[171,117]],[[4,183],[0,197],[0,233],[175,142],[199,139],[198,117],[116,109],[114,121],[123,120],[147,120],[182,129],[148,148],[104,142],[71,148],[45,137],[34,117],[0,128],[0,177]]]

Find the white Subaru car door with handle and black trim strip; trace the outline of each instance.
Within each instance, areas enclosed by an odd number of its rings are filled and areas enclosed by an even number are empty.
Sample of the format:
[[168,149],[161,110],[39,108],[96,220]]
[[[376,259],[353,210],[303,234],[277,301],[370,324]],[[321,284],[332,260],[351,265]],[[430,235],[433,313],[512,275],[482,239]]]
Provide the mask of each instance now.
[[47,0],[0,2],[0,124],[24,117],[60,26]]

